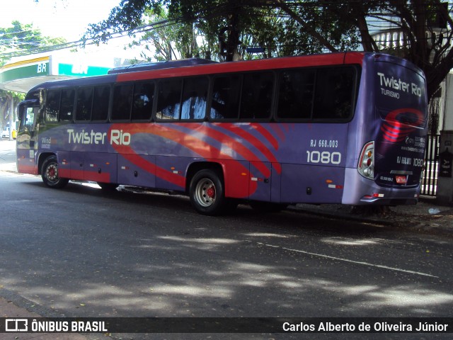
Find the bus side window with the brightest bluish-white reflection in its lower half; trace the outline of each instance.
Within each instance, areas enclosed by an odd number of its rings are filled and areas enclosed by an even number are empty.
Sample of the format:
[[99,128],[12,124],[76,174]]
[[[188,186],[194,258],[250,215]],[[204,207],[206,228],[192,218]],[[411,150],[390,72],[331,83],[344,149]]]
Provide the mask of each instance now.
[[184,79],[181,119],[204,119],[206,114],[207,77]]

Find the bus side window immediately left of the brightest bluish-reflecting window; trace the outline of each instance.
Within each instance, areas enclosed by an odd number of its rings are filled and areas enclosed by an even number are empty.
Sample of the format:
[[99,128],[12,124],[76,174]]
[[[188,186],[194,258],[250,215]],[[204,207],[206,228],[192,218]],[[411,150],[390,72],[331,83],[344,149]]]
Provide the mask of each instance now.
[[169,79],[159,82],[157,95],[156,118],[158,119],[179,119],[181,79]]

